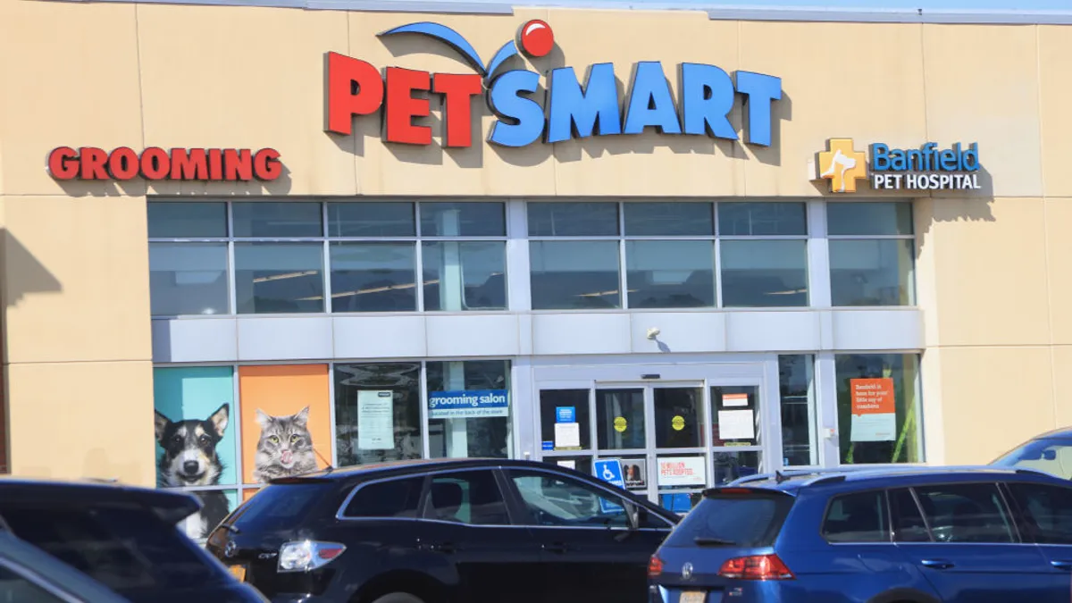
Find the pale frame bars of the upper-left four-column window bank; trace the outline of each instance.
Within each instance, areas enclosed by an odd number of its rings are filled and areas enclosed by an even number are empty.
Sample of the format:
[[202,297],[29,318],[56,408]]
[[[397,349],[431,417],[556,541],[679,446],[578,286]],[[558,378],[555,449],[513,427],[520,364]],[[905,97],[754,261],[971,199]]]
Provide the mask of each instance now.
[[[414,208],[414,235],[412,236],[332,236],[330,227],[330,216],[328,212],[329,204],[336,203],[366,203],[366,202],[396,202],[396,203],[410,203],[413,204]],[[228,293],[228,308],[225,314],[213,314],[213,317],[225,317],[225,318],[237,318],[237,317],[315,317],[315,315],[390,315],[390,314],[442,314],[442,313],[506,313],[510,312],[516,308],[516,302],[511,299],[510,292],[510,259],[509,259],[509,240],[510,236],[513,235],[511,232],[511,224],[509,219],[509,205],[511,203],[511,197],[493,197],[493,198],[478,198],[478,197],[374,197],[369,200],[355,198],[355,197],[331,197],[331,196],[302,196],[302,197],[276,197],[276,196],[264,196],[255,197],[255,201],[249,198],[220,198],[220,197],[207,197],[197,198],[196,203],[222,203],[225,206],[225,220],[226,220],[226,236],[223,237],[148,237],[148,245],[153,244],[173,244],[173,245],[193,245],[193,244],[224,244],[227,247],[227,293]],[[291,237],[245,237],[235,235],[235,218],[234,218],[234,204],[235,203],[256,203],[256,202],[276,202],[276,203],[310,203],[316,204],[319,208],[321,214],[321,233],[317,236],[291,236]],[[490,203],[498,205],[503,208],[504,216],[504,233],[502,236],[428,236],[420,232],[420,210],[422,204],[428,203]],[[147,203],[158,204],[158,203],[194,203],[188,197],[174,197],[174,196],[150,196]],[[425,242],[500,242],[503,246],[503,266],[505,273],[503,275],[503,294],[505,300],[504,309],[483,309],[477,308],[474,310],[426,310],[425,309],[425,264],[422,256],[422,247]],[[321,246],[321,281],[324,292],[324,304],[323,309],[318,312],[266,312],[266,313],[238,313],[238,291],[236,286],[236,266],[235,266],[235,245],[236,244],[249,244],[249,242],[268,242],[268,244],[318,244]],[[415,310],[391,310],[391,311],[367,311],[367,312],[337,312],[332,308],[333,292],[331,291],[331,244],[333,242],[408,242],[414,246],[414,282],[416,288],[416,309]],[[150,291],[151,295],[151,291]],[[196,314],[153,314],[152,319],[176,319],[179,317],[188,317]]]

